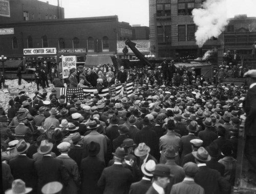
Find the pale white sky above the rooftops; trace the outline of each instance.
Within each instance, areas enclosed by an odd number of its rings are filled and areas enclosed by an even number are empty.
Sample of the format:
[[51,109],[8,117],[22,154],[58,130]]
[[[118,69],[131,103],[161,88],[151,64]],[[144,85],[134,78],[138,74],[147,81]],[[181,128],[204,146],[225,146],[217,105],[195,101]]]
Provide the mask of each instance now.
[[[57,0],[40,1],[57,5]],[[65,8],[66,18],[118,15],[119,21],[130,25],[149,26],[148,1],[151,0],[59,0],[59,3]],[[237,14],[256,16],[256,0],[227,0],[227,16]]]

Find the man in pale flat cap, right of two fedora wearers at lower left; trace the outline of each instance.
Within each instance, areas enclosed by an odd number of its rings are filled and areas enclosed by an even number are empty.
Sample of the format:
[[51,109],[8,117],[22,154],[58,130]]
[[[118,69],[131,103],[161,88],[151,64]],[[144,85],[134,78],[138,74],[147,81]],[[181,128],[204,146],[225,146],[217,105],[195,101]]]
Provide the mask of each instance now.
[[70,178],[68,185],[64,185],[63,193],[77,194],[80,186],[80,175],[76,162],[68,156],[71,144],[69,142],[61,142],[57,145],[59,152],[61,153],[57,158],[62,160],[64,166],[67,168]]

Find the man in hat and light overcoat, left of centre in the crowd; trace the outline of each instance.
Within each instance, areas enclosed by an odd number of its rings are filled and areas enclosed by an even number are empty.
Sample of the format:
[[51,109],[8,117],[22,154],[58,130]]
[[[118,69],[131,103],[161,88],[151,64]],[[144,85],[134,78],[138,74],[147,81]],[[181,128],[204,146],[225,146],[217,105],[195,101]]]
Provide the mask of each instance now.
[[107,153],[106,138],[105,138],[104,135],[99,134],[97,132],[97,128],[99,127],[99,125],[100,124],[97,124],[97,122],[95,120],[89,121],[87,128],[89,130],[91,130],[91,133],[88,134],[87,136],[84,136],[82,142],[83,142],[83,147],[84,148],[86,148],[91,141],[99,143],[100,144],[100,151],[97,154],[97,157],[101,161],[105,161],[105,156],[106,156],[106,153]]

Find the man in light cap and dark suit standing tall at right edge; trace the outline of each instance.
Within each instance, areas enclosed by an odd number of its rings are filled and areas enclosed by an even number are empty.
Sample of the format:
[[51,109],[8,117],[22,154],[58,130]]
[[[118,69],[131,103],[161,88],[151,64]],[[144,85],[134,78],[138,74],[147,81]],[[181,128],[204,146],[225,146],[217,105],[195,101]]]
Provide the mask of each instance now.
[[256,70],[249,70],[244,74],[250,85],[245,97],[245,156],[249,161],[250,177],[256,181]]

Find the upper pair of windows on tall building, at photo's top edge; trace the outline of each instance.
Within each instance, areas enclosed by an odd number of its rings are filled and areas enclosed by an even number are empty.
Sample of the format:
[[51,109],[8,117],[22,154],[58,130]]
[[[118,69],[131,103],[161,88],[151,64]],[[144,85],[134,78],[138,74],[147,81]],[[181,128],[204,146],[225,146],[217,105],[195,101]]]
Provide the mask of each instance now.
[[[195,0],[178,3],[178,15],[192,15],[192,10],[195,8]],[[170,3],[157,4],[157,16],[170,16]]]

